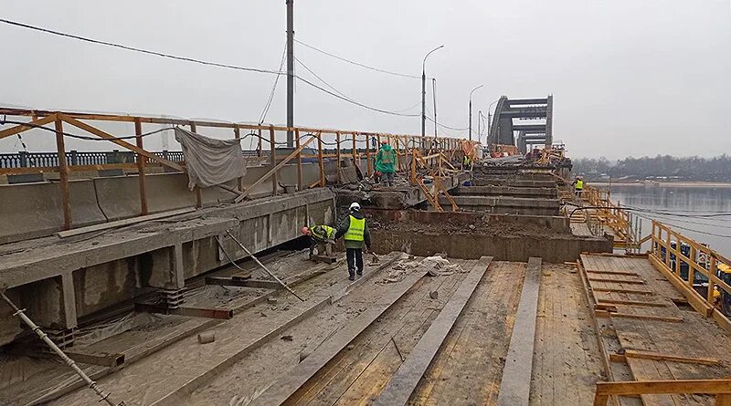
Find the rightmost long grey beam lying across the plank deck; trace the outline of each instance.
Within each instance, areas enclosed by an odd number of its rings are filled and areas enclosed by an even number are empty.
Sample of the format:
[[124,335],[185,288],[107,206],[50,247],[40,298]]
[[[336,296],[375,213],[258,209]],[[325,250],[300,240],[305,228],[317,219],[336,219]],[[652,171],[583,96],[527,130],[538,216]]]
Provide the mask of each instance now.
[[505,358],[503,380],[497,398],[498,406],[527,406],[530,400],[535,318],[541,284],[541,258],[530,257],[525,272],[520,303],[515,315],[510,348]]

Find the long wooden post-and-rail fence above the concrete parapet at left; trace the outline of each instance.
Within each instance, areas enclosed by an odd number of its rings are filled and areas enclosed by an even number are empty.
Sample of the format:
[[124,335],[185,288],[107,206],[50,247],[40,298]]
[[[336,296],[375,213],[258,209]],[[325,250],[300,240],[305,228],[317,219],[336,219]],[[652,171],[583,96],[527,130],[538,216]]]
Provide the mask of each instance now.
[[[236,189],[229,188],[225,185],[218,185],[223,189],[226,189],[230,193],[237,195],[235,201],[240,202],[247,196],[252,190],[259,186],[262,182],[271,182],[272,194],[278,194],[278,188],[280,187],[279,172],[281,168],[292,162],[296,165],[297,176],[296,176],[296,187],[298,190],[304,190],[311,187],[325,186],[325,162],[326,161],[337,161],[337,167],[340,168],[340,162],[345,159],[353,159],[354,164],[357,165],[361,159],[365,159],[365,173],[370,176],[374,172],[374,163],[376,157],[376,148],[374,148],[373,141],[376,141],[376,145],[380,145],[380,141],[386,139],[394,148],[397,153],[397,171],[404,171],[408,169],[408,161],[414,154],[414,151],[419,151],[423,154],[425,151],[440,151],[445,156],[450,157],[451,160],[461,159],[461,142],[463,140],[447,138],[447,137],[420,137],[415,135],[403,135],[403,134],[390,134],[390,133],[378,133],[378,132],[363,132],[363,131],[344,131],[344,130],[325,130],[325,129],[314,129],[295,127],[288,128],[274,125],[252,125],[252,124],[239,124],[239,123],[227,123],[217,121],[206,121],[206,120],[182,120],[182,119],[164,119],[155,117],[142,117],[142,116],[119,116],[111,114],[94,114],[94,113],[79,113],[79,112],[64,112],[64,111],[47,111],[47,110],[28,110],[28,109],[0,109],[0,115],[6,115],[9,117],[25,117],[30,118],[30,121],[24,122],[24,124],[18,124],[15,127],[11,127],[5,130],[0,130],[0,140],[11,137],[27,130],[34,130],[38,127],[44,127],[47,125],[54,125],[53,129],[48,129],[54,132],[57,151],[55,154],[49,153],[48,156],[44,155],[44,160],[36,163],[36,165],[45,165],[43,167],[31,166],[22,167],[18,162],[18,167],[12,167],[8,164],[7,168],[0,168],[0,174],[22,174],[32,172],[43,172],[40,168],[50,169],[59,173],[60,180],[60,194],[61,194],[61,206],[64,218],[64,229],[69,229],[73,225],[71,218],[70,209],[70,196],[69,196],[69,172],[71,171],[87,171],[87,170],[101,170],[101,169],[120,169],[120,168],[136,168],[139,173],[139,189],[140,189],[140,215],[147,213],[147,197],[146,197],[146,182],[145,182],[145,167],[148,165],[162,165],[170,168],[173,171],[185,172],[185,162],[182,158],[182,152],[152,152],[144,149],[143,146],[143,125],[144,124],[164,124],[164,125],[176,125],[176,126],[187,126],[193,132],[197,132],[198,128],[208,129],[228,129],[231,130],[235,139],[241,139],[241,130],[250,131],[251,134],[256,135],[258,138],[257,152],[254,155],[258,157],[260,161],[268,162],[270,171],[265,173],[256,182],[253,182],[248,187],[244,187],[242,179],[238,178],[238,186]],[[87,121],[104,121],[104,122],[119,122],[128,123],[133,125],[134,143],[121,140],[110,133],[101,130],[97,127],[90,125]],[[71,155],[70,151],[66,151],[64,139],[68,135],[64,131],[64,125],[72,126],[77,130],[83,130],[93,136],[99,137],[100,139],[110,141],[125,150],[131,152],[125,152],[132,156],[130,161],[122,163],[87,163],[94,162],[91,158],[89,161],[79,161],[78,156],[76,161]],[[294,145],[291,147],[293,151],[286,151],[282,153],[284,158],[278,156],[278,150],[283,142],[277,141],[277,131],[281,133],[281,136],[285,131],[292,131],[294,133]],[[316,142],[315,142],[316,141]],[[344,143],[349,147],[348,150],[343,149]],[[310,153],[305,153],[305,148],[310,147]],[[316,148],[314,147],[316,145]],[[325,147],[328,145],[334,145],[334,149],[326,151]],[[316,153],[312,153],[316,151]],[[286,155],[285,155],[286,153]],[[55,159],[54,159],[55,157]],[[10,161],[12,159],[8,158]],[[256,159],[256,158],[255,158]],[[302,162],[304,160],[314,160],[319,165],[319,180],[312,184],[304,184],[302,181]],[[434,162],[429,161],[428,165],[433,165]],[[193,191],[196,195],[196,206],[202,205],[202,196],[199,188],[195,188]]]

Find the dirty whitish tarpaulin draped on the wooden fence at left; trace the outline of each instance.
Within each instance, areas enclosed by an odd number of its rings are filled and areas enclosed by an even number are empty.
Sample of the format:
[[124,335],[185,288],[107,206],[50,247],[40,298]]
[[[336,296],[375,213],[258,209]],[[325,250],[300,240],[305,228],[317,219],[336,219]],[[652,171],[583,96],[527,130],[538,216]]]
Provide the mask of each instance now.
[[246,160],[238,140],[217,140],[175,127],[175,140],[183,146],[188,188],[205,188],[246,174]]

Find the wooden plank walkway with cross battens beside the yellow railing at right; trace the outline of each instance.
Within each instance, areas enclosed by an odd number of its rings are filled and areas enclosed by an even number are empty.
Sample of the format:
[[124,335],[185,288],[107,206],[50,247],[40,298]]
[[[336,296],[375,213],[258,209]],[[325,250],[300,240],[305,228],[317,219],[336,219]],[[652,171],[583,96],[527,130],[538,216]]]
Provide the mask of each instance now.
[[[581,263],[598,316],[610,318],[620,352],[628,351],[615,360],[627,362],[634,380],[720,379],[731,374],[731,338],[692,308],[678,307],[684,297],[647,258],[581,255]],[[717,359],[719,365],[708,365],[709,359]],[[645,405],[713,404],[695,395],[641,399]]]

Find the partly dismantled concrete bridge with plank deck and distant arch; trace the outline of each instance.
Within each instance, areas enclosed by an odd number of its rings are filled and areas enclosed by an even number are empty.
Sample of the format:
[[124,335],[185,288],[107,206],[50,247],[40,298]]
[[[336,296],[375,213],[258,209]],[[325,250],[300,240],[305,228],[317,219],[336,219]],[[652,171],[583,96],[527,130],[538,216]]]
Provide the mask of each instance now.
[[[0,404],[731,404],[731,261],[576,193],[552,109],[500,99],[489,142],[524,153],[493,155],[447,137],[0,109],[0,141],[32,130],[57,146],[0,156]],[[256,148],[201,187],[186,151],[145,149],[175,128]],[[69,137],[115,150],[68,151]],[[382,141],[390,186],[375,180]],[[375,252],[355,281],[342,246],[311,257],[301,234],[353,202]]]

